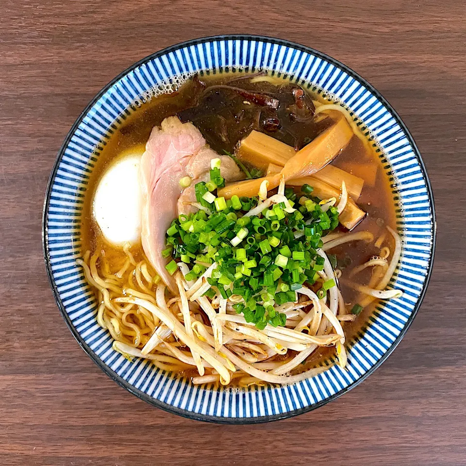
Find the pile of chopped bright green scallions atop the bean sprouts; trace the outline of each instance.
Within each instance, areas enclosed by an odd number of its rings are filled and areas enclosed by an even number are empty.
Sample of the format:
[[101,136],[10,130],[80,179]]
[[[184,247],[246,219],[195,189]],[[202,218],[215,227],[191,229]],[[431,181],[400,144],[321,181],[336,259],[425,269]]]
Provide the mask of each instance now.
[[[182,261],[190,270],[185,276],[190,281],[216,263],[207,278],[211,287],[205,296],[213,299],[219,294],[230,299],[236,312],[258,329],[267,323],[284,326],[286,316],[274,306],[295,302],[296,290],[303,283],[316,283],[324,268],[324,259],[316,250],[322,247],[321,237],[338,225],[338,211],[327,206],[324,212],[321,200],[312,196],[312,186],[305,184],[299,197],[292,188],[284,191],[296,210],[279,202],[257,216],[247,216],[259,198],[225,200],[216,196],[216,188],[223,185],[220,160],[214,159],[210,182],[195,185],[196,199],[207,212],[180,215],[166,232],[167,248],[162,255],[172,258],[166,269],[173,274]],[[323,283],[317,296],[324,298],[333,286],[333,280]]]

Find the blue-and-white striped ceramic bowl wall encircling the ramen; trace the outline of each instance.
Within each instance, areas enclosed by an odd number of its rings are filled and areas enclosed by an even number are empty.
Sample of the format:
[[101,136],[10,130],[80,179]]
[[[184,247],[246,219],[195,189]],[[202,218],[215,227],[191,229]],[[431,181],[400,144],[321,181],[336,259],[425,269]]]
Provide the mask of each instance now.
[[[118,124],[151,90],[201,70],[236,72],[265,68],[308,84],[343,102],[380,147],[393,179],[402,257],[392,285],[402,298],[381,302],[361,336],[351,342],[348,368],[333,366],[300,383],[244,391],[194,386],[156,369],[131,363],[112,349],[96,322],[96,300],[77,266],[87,180]],[[388,102],[354,71],[316,50],[256,36],[217,36],[185,42],[134,64],[106,85],[68,133],[53,167],[43,216],[43,247],[50,284],[67,325],[100,368],[137,397],[182,416],[223,423],[264,422],[315,409],[360,383],[394,350],[424,296],[435,244],[433,197],[415,142]]]

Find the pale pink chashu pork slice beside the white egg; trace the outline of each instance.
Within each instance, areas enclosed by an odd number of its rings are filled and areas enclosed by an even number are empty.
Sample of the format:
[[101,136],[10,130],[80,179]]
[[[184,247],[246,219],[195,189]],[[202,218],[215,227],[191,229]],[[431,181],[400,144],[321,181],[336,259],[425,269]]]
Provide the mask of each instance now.
[[[192,123],[182,123],[178,117],[170,116],[162,122],[161,128],[153,128],[141,158],[142,247],[150,264],[173,293],[177,286],[166,271],[167,260],[162,257],[162,250],[166,249],[165,233],[179,213],[189,213],[193,208],[183,202],[196,201],[194,184],[209,180],[210,162],[217,157]],[[242,172],[233,160],[226,156],[220,158],[221,173],[226,181],[240,180]],[[190,176],[193,183],[183,192],[180,179],[185,176]]]

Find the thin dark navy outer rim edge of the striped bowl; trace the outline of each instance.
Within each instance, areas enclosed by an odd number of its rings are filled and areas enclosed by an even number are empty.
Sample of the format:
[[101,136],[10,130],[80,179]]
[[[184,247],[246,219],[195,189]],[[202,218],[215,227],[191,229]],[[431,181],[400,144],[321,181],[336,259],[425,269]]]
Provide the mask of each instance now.
[[[100,97],[110,88],[112,87],[117,81],[119,81],[121,78],[126,76],[128,73],[133,71],[135,68],[155,59],[158,57],[161,57],[163,55],[166,55],[170,52],[173,52],[178,49],[182,49],[184,47],[190,47],[193,45],[198,45],[204,42],[209,42],[209,41],[218,41],[218,40],[257,40],[257,41],[264,41],[268,42],[271,44],[276,44],[284,47],[290,47],[296,50],[300,50],[303,52],[311,53],[315,55],[316,57],[319,57],[321,59],[326,60],[327,62],[333,64],[335,67],[338,67],[342,70],[344,70],[346,73],[348,73],[352,78],[354,78],[356,81],[359,83],[362,83],[363,85],[366,86],[366,88],[373,93],[373,95],[380,100],[385,108],[388,110],[391,116],[393,116],[396,120],[396,122],[399,124],[400,128],[403,130],[405,133],[411,147],[413,148],[413,151],[416,155],[417,161],[419,162],[420,170],[425,178],[426,182],[426,187],[427,187],[427,192],[429,196],[429,204],[431,206],[432,210],[432,245],[430,249],[430,255],[429,255],[429,266],[427,269],[427,273],[425,276],[425,282],[423,284],[421,293],[419,295],[419,299],[416,302],[416,305],[413,309],[413,312],[411,316],[409,316],[408,320],[406,321],[403,329],[399,333],[399,336],[395,339],[395,341],[392,343],[392,345],[386,350],[386,352],[383,354],[383,356],[372,366],[370,367],[365,374],[363,374],[360,378],[355,380],[353,383],[350,383],[347,387],[339,390],[336,392],[334,395],[331,397],[328,397],[326,399],[323,399],[313,405],[306,406],[304,408],[300,409],[295,409],[293,411],[289,411],[287,413],[282,413],[282,414],[276,414],[276,415],[270,415],[270,416],[256,416],[256,417],[219,417],[219,416],[210,416],[210,415],[202,415],[198,413],[193,413],[191,411],[187,411],[185,409],[180,409],[172,406],[169,403],[160,401],[158,399],[152,398],[146,393],[142,392],[141,390],[135,388],[131,383],[125,381],[122,377],[120,377],[118,374],[116,374],[115,371],[113,371],[110,367],[106,366],[103,361],[97,356],[97,354],[89,348],[89,346],[84,342],[82,336],[80,333],[75,329],[73,326],[70,317],[67,315],[67,312],[65,310],[65,307],[63,305],[63,302],[61,300],[60,294],[58,292],[57,285],[55,283],[55,280],[53,278],[52,274],[52,269],[51,269],[51,263],[50,263],[50,254],[49,254],[49,245],[47,239],[47,214],[49,211],[49,204],[50,204],[50,195],[51,195],[51,188],[53,181],[55,179],[55,175],[57,173],[58,167],[62,161],[65,149],[67,148],[67,145],[72,137],[72,135],[75,133],[75,130],[78,128],[78,126],[81,124],[83,121],[84,117],[87,115],[88,111],[94,106],[94,104],[100,99]],[[432,186],[427,174],[426,167],[424,165],[424,162],[422,160],[421,154],[419,152],[419,149],[417,148],[416,142],[411,135],[411,133],[408,131],[408,128],[406,125],[403,123],[395,109],[390,105],[390,103],[382,96],[382,94],[375,89],[370,83],[368,83],[364,78],[362,78],[358,73],[353,71],[350,67],[347,67],[340,61],[332,58],[331,56],[320,52],[316,49],[313,49],[311,47],[306,47],[301,44],[285,40],[285,39],[278,39],[274,37],[269,37],[265,35],[252,35],[252,34],[220,34],[220,35],[213,35],[213,36],[206,36],[206,37],[200,37],[197,39],[191,39],[187,40],[184,42],[180,42],[178,44],[166,47],[162,50],[159,50],[155,53],[152,53],[145,58],[142,58],[141,60],[137,61],[130,67],[126,68],[123,70],[121,73],[119,73],[114,79],[112,79],[109,83],[105,84],[100,91],[89,101],[89,103],[85,106],[85,108],[81,111],[80,116],[76,119],[76,121],[73,123],[71,129],[67,133],[67,136],[61,145],[60,149],[58,150],[55,162],[53,164],[52,171],[50,173],[49,181],[47,183],[47,191],[46,191],[46,196],[44,200],[44,205],[43,205],[43,211],[42,211],[42,252],[44,255],[44,261],[47,269],[47,275],[49,278],[49,283],[50,287],[53,292],[53,296],[55,298],[55,301],[60,309],[61,315],[63,319],[65,320],[68,329],[74,336],[74,338],[77,340],[81,348],[86,352],[86,354],[94,361],[94,363],[100,367],[100,369],[108,375],[113,381],[118,383],[121,387],[125,388],[128,390],[130,393],[135,395],[137,398],[142,399],[146,401],[147,403],[156,406],[160,409],[163,409],[164,411],[167,411],[172,414],[176,414],[178,416],[183,416],[188,419],[194,419],[194,420],[200,420],[200,421],[206,421],[206,422],[212,422],[212,423],[217,423],[217,424],[258,424],[258,423],[263,423],[263,422],[269,422],[269,421],[275,421],[275,420],[281,420],[281,419],[286,419],[294,416],[299,416],[300,414],[307,413],[309,411],[313,411],[333,399],[336,399],[340,397],[341,395],[347,393],[350,391],[352,388],[355,386],[359,385],[359,383],[363,382],[366,380],[366,378],[371,375],[376,369],[378,369],[382,363],[385,361],[385,359],[390,356],[390,354],[395,350],[395,348],[398,346],[399,342],[407,332],[408,328],[411,326],[414,318],[417,315],[417,311],[419,310],[419,307],[424,299],[427,286],[430,281],[432,269],[433,269],[433,259],[434,259],[434,253],[435,253],[435,243],[436,243],[436,217],[435,217],[435,205],[434,205],[434,198],[433,198],[433,192],[432,192]]]

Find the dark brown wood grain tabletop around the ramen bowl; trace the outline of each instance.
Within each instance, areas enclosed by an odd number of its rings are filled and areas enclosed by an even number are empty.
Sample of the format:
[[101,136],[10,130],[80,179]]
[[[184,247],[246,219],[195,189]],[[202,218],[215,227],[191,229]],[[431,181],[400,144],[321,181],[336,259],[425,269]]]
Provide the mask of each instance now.
[[[466,2],[0,0],[0,465],[466,464]],[[390,358],[343,397],[253,426],[195,422],[120,388],[67,330],[41,216],[87,102],[166,46],[268,34],[321,50],[394,106],[436,201],[435,266]]]

